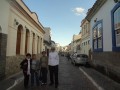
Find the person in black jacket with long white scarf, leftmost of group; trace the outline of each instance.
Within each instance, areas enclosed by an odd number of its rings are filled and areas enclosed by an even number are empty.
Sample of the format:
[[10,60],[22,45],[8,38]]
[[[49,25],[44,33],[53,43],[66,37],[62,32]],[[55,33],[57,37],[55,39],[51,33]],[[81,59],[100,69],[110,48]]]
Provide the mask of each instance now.
[[24,87],[28,88],[29,76],[31,75],[31,54],[27,53],[26,58],[20,63],[20,68],[23,70],[24,74]]

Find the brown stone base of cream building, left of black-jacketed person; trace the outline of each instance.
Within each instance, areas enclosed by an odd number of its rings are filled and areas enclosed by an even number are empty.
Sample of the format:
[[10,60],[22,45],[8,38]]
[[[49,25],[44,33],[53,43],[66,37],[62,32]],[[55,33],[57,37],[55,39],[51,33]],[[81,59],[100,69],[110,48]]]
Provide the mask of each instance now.
[[7,56],[6,57],[6,77],[9,77],[20,71],[20,62],[25,58],[25,56]]

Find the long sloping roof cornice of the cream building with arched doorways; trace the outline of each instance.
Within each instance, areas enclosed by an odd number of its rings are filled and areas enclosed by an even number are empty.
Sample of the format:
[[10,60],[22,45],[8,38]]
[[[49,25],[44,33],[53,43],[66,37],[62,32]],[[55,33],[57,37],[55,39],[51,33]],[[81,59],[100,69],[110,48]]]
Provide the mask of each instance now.
[[14,9],[25,16],[33,25],[35,25],[39,31],[45,34],[44,27],[39,22],[37,14],[31,12],[22,0],[11,0],[10,4],[14,7]]

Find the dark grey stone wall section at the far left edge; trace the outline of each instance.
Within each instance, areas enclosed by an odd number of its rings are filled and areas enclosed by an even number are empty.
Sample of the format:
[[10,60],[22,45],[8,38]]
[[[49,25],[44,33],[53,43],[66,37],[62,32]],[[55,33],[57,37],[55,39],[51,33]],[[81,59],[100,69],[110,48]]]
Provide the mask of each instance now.
[[7,34],[0,33],[0,80],[5,77]]

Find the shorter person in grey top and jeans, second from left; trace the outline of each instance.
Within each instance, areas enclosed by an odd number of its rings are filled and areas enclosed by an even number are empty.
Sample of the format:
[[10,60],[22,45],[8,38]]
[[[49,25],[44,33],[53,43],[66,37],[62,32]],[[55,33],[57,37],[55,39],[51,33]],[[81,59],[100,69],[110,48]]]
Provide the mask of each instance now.
[[36,81],[36,85],[39,86],[39,60],[36,59],[36,55],[32,55],[32,64],[31,64],[31,86],[34,86],[34,82]]

